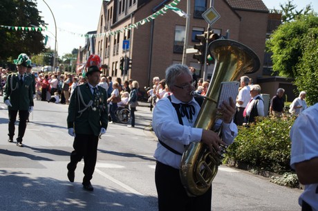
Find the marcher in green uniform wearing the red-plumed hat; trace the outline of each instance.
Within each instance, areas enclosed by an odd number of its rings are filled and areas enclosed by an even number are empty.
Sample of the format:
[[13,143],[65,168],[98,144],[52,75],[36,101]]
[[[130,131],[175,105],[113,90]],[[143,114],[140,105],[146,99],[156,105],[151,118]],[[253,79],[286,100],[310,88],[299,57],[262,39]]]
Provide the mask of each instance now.
[[97,158],[98,139],[106,133],[108,124],[107,92],[97,86],[100,68],[90,66],[86,73],[88,82],[75,88],[68,106],[68,134],[74,136],[74,151],[68,163],[68,179],[73,183],[77,163],[84,158],[84,190],[92,191],[91,178]]

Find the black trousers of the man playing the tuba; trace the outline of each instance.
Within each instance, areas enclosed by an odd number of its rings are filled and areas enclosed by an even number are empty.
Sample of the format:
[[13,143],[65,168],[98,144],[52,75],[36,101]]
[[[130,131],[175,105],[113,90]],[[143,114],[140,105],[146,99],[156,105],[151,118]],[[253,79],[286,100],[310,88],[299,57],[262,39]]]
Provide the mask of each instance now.
[[188,196],[179,170],[157,162],[155,172],[159,211],[211,211],[212,187],[202,196]]

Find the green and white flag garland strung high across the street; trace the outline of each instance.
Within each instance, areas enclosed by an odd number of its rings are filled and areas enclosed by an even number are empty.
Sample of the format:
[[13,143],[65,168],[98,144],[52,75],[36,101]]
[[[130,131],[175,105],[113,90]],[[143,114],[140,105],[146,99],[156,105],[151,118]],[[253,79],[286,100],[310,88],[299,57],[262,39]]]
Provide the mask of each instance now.
[[[151,22],[152,20],[156,19],[159,15],[165,15],[167,13],[167,10],[172,10],[173,12],[176,12],[180,17],[188,17],[187,13],[183,12],[183,10],[180,10],[179,8],[176,8],[178,6],[178,3],[180,3],[181,0],[174,0],[171,3],[165,5],[162,9],[158,10],[157,12],[154,12],[152,15],[149,15],[148,17],[142,19],[141,21],[136,22],[135,24],[131,24],[127,27],[120,28],[115,31],[109,31],[106,33],[100,33],[100,34],[79,34],[79,33],[73,33],[68,30],[64,30],[62,28],[58,28],[59,31],[64,31],[67,33],[71,33],[73,35],[78,35],[79,37],[104,37],[104,36],[113,36],[117,35],[118,33],[127,32],[128,30],[131,30],[132,28],[138,28],[138,26],[142,26],[144,24],[147,24]],[[29,30],[29,31],[44,31],[48,30],[47,27],[30,27],[30,26],[2,26],[2,28],[8,28],[9,30]]]

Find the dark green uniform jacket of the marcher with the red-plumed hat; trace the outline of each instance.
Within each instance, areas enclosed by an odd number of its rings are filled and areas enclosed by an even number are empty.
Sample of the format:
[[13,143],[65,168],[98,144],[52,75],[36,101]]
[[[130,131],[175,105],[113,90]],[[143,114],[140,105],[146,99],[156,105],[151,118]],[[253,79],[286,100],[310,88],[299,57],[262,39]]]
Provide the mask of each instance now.
[[95,98],[87,83],[77,86],[71,96],[67,125],[68,128],[75,129],[75,134],[99,136],[102,127],[107,129],[107,92],[104,88],[97,87]]

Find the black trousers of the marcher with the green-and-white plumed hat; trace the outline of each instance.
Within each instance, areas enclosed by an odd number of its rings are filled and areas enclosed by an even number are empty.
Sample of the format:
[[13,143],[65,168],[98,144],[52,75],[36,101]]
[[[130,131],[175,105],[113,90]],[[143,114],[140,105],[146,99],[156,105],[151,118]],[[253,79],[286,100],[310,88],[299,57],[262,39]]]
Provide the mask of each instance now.
[[[18,110],[8,110],[9,111],[9,133],[8,136],[10,139],[13,139],[15,136],[15,121],[17,120]],[[26,132],[26,120],[28,119],[29,111],[19,110],[19,133],[18,133],[18,142],[22,142],[24,138],[24,133]]]

